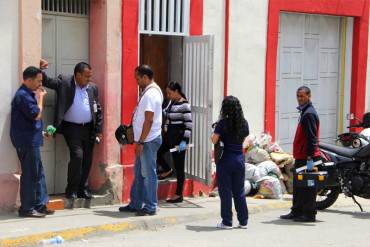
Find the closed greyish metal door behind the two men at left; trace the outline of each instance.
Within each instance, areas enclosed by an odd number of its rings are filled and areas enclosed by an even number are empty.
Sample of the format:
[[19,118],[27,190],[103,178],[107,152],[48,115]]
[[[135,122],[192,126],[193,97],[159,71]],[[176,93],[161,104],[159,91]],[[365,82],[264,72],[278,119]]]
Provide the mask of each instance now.
[[[73,74],[74,66],[88,61],[89,20],[44,14],[42,18],[42,56],[49,61],[48,75]],[[48,90],[44,125],[53,124],[55,93]],[[64,193],[67,183],[69,151],[62,136],[44,143],[41,151],[49,194]]]

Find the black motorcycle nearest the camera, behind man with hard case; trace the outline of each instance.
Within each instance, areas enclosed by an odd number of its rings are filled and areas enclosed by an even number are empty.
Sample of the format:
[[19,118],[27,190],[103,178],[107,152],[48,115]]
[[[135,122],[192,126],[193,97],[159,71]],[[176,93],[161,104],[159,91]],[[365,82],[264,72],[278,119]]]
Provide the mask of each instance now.
[[332,206],[340,193],[351,197],[363,212],[357,197],[370,199],[370,144],[358,148],[319,145],[324,162],[317,168],[328,176],[318,191],[316,206],[324,210]]

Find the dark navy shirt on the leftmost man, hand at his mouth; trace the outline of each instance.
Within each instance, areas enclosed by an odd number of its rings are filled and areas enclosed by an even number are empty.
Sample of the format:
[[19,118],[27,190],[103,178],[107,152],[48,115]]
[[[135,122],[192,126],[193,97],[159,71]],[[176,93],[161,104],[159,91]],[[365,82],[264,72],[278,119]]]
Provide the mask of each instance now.
[[22,85],[12,101],[10,138],[15,147],[42,146],[42,120],[35,120],[39,112],[35,94]]

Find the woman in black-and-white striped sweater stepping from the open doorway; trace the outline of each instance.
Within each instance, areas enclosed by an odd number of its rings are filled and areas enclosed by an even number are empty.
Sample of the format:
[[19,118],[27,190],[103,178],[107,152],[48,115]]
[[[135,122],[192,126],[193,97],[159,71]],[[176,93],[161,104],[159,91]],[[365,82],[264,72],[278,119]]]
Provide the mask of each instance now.
[[159,179],[164,179],[172,174],[172,169],[167,164],[164,155],[172,148],[178,147],[178,151],[172,153],[176,169],[177,188],[176,195],[168,203],[183,201],[182,193],[185,181],[185,153],[189,144],[192,117],[191,106],[182,92],[178,82],[170,82],[166,87],[167,98],[171,101],[164,110],[163,143],[158,150],[158,163],[163,169]]

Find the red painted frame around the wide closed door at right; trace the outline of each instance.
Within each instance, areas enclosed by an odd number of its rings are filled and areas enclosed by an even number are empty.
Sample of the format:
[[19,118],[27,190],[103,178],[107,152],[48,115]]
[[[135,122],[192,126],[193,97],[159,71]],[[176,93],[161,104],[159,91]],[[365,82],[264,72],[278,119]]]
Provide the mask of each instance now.
[[[268,9],[265,131],[275,138],[276,65],[280,12],[354,17],[352,47],[351,113],[362,117],[366,100],[366,70],[370,0],[270,0]],[[337,6],[333,8],[333,6]]]

